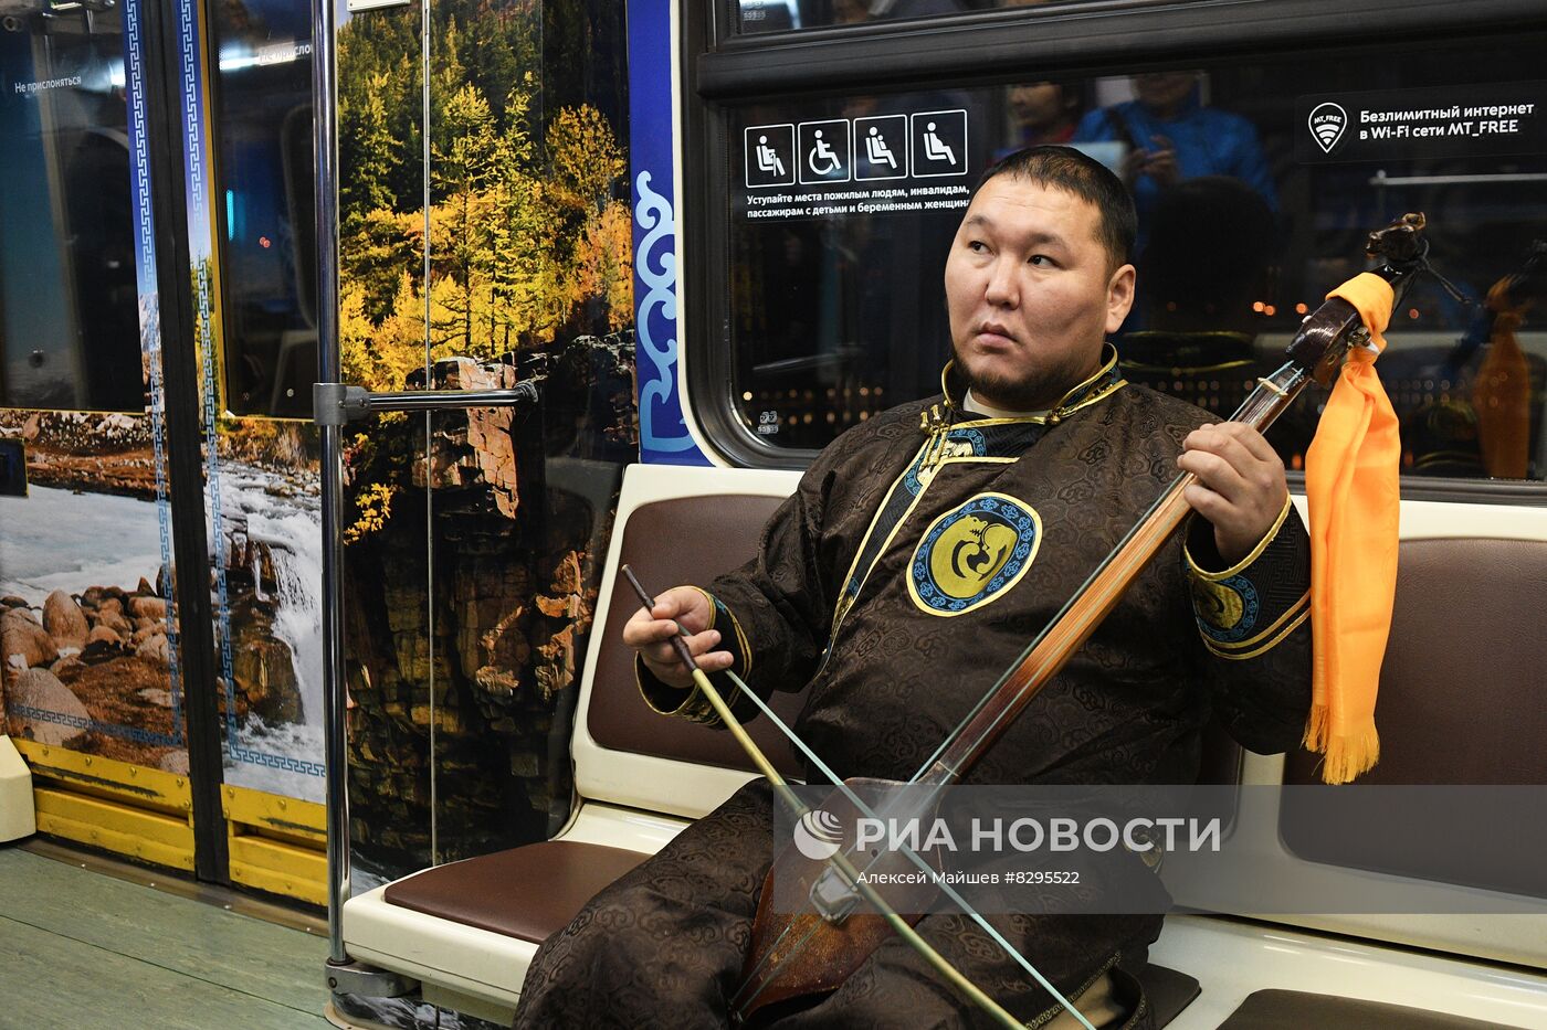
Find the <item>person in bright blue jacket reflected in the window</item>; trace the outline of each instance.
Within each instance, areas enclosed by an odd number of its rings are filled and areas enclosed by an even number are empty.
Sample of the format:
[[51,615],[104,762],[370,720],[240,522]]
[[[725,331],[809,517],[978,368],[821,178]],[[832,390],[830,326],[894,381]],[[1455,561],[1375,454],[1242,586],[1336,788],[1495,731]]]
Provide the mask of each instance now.
[[1132,77],[1135,99],[1091,111],[1075,128],[1075,142],[1128,147],[1123,181],[1134,193],[1140,235],[1162,190],[1204,175],[1241,179],[1269,209],[1278,206],[1256,128],[1239,114],[1205,107],[1200,85],[1199,71],[1146,71]]

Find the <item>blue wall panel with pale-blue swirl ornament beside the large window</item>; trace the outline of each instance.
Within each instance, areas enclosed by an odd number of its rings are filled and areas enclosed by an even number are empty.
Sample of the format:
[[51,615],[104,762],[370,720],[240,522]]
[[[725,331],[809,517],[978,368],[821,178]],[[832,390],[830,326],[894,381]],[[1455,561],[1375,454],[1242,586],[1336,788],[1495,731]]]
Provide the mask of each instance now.
[[628,136],[634,203],[639,459],[707,466],[678,390],[676,217],[671,196],[671,6],[628,0]]

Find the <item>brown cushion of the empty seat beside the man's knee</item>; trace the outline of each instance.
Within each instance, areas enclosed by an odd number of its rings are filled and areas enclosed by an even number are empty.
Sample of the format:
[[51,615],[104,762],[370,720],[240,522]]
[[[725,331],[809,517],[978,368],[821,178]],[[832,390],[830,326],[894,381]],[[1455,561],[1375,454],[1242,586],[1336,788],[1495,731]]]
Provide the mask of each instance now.
[[541,943],[648,855],[545,841],[427,869],[385,891],[390,905]]

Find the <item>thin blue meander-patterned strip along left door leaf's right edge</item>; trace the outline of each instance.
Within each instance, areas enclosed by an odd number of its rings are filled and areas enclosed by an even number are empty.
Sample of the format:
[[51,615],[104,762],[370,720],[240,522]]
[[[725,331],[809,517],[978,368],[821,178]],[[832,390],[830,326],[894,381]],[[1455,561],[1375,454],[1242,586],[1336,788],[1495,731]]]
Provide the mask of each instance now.
[[[150,158],[145,135],[145,70],[144,43],[141,39],[141,2],[124,3],[124,85],[128,101],[128,178],[130,195],[135,198],[135,281],[139,292],[139,348],[150,370],[150,438],[156,466],[156,521],[161,530],[161,583],[167,592],[167,674],[172,687],[172,738],[170,741],[141,741],[149,744],[183,744],[183,674],[179,670],[181,648],[178,643],[178,602],[175,571],[172,568],[172,501],[167,489],[167,390],[161,365],[161,295],[156,289],[156,232],[150,207]],[[94,728],[94,727],[93,727]],[[124,733],[102,730],[113,736],[142,735],[144,730],[124,727]],[[161,735],[152,735],[159,738]]]

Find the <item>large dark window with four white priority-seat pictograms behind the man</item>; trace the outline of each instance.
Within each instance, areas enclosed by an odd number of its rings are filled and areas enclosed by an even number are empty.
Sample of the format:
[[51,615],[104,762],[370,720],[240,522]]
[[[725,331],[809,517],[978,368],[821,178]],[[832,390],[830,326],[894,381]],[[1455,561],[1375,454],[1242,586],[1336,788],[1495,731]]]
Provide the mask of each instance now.
[[[1378,363],[1405,472],[1541,479],[1539,46],[727,105],[733,422],[777,456],[936,393],[950,350],[941,274],[968,192],[995,158],[1055,142],[1108,164],[1135,198],[1139,300],[1114,337],[1128,379],[1221,416],[1363,268],[1364,235],[1425,212],[1445,280],[1405,297]],[[1309,390],[1270,433],[1290,467],[1324,396]]]

